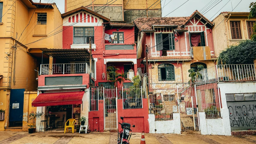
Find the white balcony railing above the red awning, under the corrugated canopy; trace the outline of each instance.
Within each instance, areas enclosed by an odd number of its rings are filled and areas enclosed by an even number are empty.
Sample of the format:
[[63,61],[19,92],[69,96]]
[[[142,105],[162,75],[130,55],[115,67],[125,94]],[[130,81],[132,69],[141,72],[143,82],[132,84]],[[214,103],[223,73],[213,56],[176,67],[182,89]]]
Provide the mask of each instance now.
[[[40,75],[50,74],[77,74],[90,73],[90,67],[87,63],[75,64],[41,64]],[[92,71],[92,77],[94,73]]]

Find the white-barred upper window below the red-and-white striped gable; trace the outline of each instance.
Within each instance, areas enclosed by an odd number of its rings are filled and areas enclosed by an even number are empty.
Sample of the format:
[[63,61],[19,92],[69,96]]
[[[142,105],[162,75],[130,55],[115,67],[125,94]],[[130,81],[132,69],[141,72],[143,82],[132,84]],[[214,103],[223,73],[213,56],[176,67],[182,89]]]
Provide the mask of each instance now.
[[90,37],[94,44],[94,27],[74,27],[73,44],[89,44]]

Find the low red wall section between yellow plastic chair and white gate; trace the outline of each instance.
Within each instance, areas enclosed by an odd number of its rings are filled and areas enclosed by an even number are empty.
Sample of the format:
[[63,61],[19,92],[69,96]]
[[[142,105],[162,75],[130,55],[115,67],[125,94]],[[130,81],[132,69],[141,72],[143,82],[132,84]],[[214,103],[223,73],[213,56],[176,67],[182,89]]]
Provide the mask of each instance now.
[[95,118],[99,118],[99,131],[100,132],[104,132],[104,101],[103,100],[99,100],[99,110],[98,111],[90,111],[89,112],[89,128],[91,131],[94,131],[93,129],[93,119],[95,120]]

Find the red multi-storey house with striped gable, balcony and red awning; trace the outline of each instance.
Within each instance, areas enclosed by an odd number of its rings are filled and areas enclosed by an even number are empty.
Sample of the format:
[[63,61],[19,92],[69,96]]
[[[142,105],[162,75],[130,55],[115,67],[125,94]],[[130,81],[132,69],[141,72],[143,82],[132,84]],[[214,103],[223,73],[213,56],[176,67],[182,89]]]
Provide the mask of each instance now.
[[[44,58],[50,60],[49,64],[48,60],[44,62],[47,64],[41,64],[40,94],[32,105],[45,113],[52,110],[54,114],[63,114],[65,121],[77,119],[76,125],[80,116],[84,116],[91,131],[117,130],[123,116],[125,122],[136,125],[134,132],[149,132],[147,99],[142,87],[129,89],[133,85],[130,80],[111,83],[113,77],[108,73],[110,67],[114,67],[116,73],[129,72],[123,79],[136,75],[134,24],[110,22],[85,7],[63,13],[62,18],[63,48],[42,50]],[[92,40],[91,67],[89,38]],[[47,95],[44,93],[51,93],[53,97],[43,98]],[[73,97],[76,93],[80,96]],[[66,96],[72,98],[61,101]],[[52,103],[53,98],[57,102]],[[140,113],[134,114],[137,109]],[[63,112],[60,114],[60,111]]]

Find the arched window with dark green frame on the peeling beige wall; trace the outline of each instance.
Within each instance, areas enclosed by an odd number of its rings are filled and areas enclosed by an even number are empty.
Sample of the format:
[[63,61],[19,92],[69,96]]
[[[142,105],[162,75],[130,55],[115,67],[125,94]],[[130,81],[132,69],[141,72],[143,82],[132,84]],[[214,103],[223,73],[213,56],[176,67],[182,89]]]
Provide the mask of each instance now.
[[158,65],[158,80],[159,81],[175,80],[174,66],[172,64],[159,64]]

